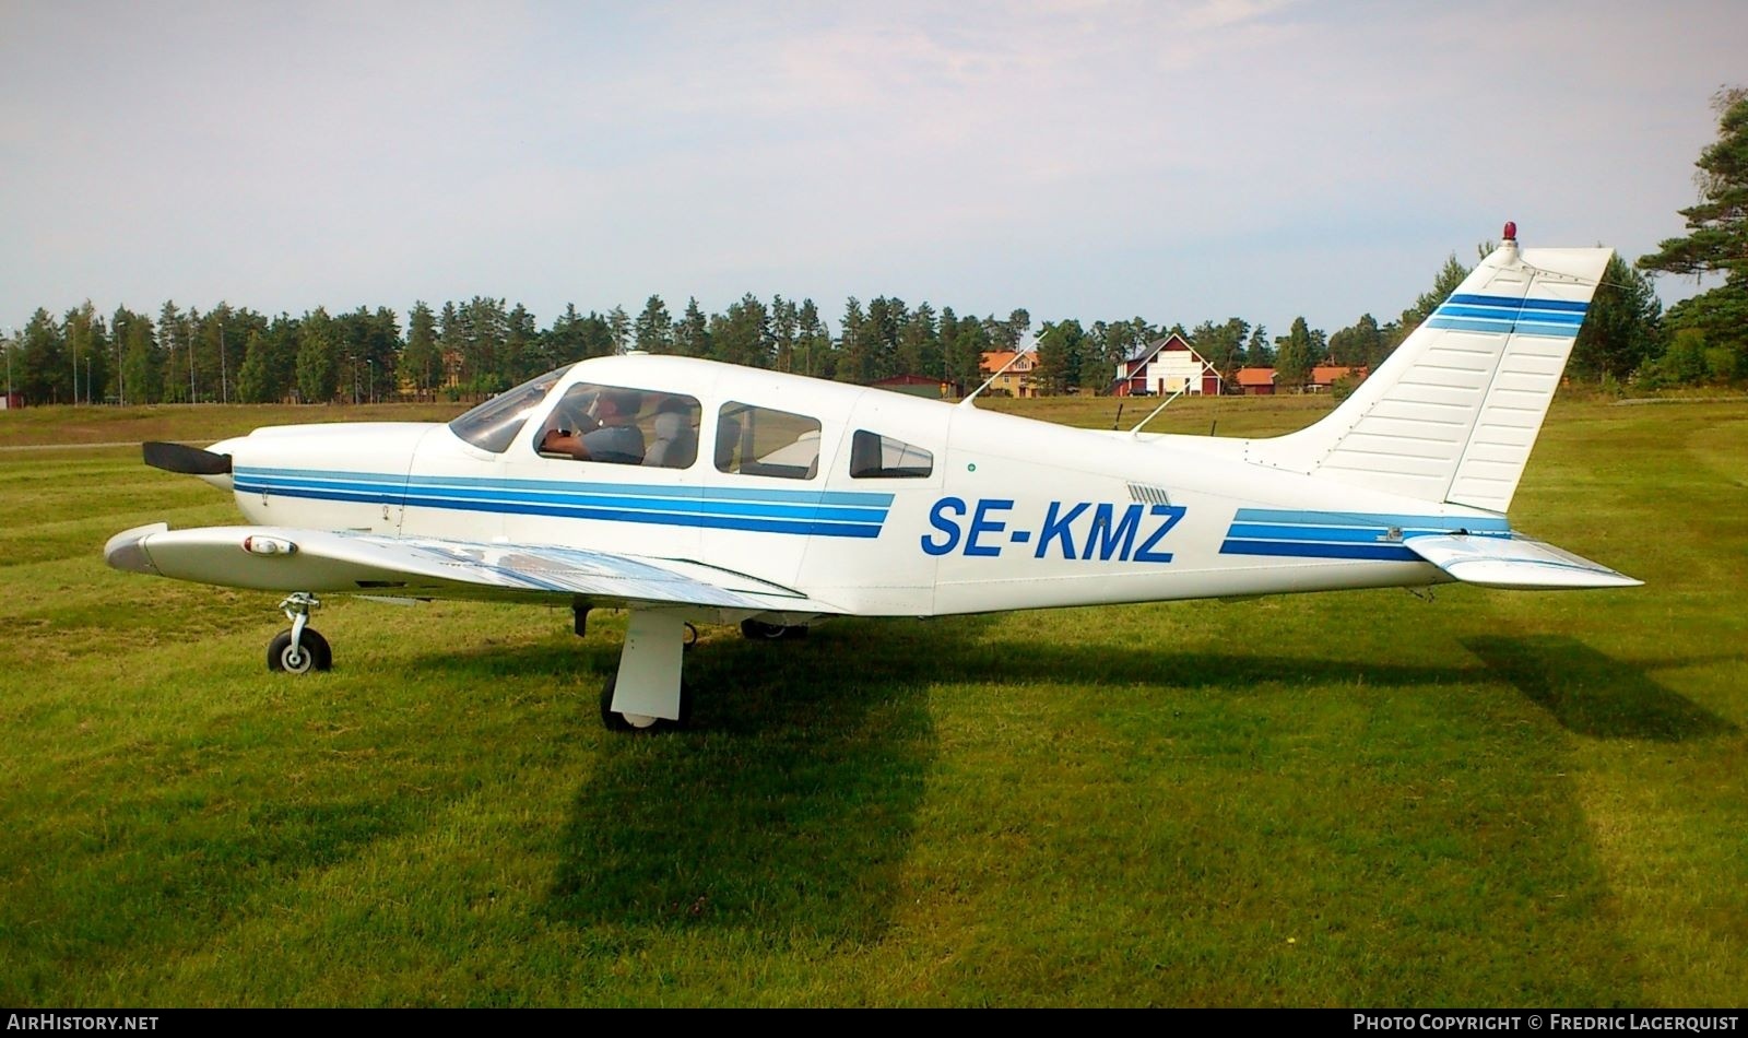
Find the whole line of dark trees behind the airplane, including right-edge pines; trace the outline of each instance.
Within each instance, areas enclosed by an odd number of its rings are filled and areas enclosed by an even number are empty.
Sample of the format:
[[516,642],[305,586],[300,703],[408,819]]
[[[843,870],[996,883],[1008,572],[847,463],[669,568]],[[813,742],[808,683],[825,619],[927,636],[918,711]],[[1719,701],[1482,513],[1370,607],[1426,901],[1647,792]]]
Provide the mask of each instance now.
[[[1718,142],[1701,154],[1701,201],[1680,210],[1690,234],[1664,241],[1629,267],[1615,257],[1578,334],[1568,370],[1580,379],[1645,386],[1748,376],[1748,91],[1713,98]],[[1479,248],[1481,255],[1491,245]],[[1724,285],[1661,311],[1648,274],[1724,274]],[[1285,336],[1243,318],[1162,327],[1044,322],[1037,379],[1045,391],[1103,390],[1122,358],[1178,332],[1227,379],[1239,367],[1274,367],[1278,384],[1301,384],[1314,363],[1376,369],[1468,276],[1456,255],[1432,288],[1395,320],[1362,315],[1334,334],[1297,318]],[[37,404],[330,402],[400,395],[486,395],[572,360],[643,349],[708,356],[851,383],[888,376],[940,377],[960,391],[982,381],[982,355],[1016,349],[1031,315],[960,316],[953,308],[851,297],[837,334],[811,299],[745,295],[704,315],[689,299],[673,316],[650,295],[635,318],[615,306],[582,315],[566,306],[540,329],[523,304],[475,295],[432,309],[416,302],[402,332],[388,308],[267,318],[220,304],[206,313],[175,302],[156,320],[128,308],[108,320],[86,302],[61,318],[38,309],[7,343],[10,384]]]

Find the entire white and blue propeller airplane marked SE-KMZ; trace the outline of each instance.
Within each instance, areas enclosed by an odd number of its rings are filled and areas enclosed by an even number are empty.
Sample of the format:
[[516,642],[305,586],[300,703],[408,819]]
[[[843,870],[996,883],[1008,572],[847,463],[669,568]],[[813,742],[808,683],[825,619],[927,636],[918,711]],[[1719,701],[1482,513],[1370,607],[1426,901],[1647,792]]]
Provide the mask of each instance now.
[[[259,428],[159,468],[250,526],[117,533],[110,566],[287,592],[267,650],[325,669],[320,594],[631,610],[610,729],[689,713],[689,622],[1351,587],[1626,587],[1505,517],[1606,248],[1516,227],[1332,414],[1274,439],[1065,428],[682,356],[584,360],[447,425]],[[1141,423],[1145,425],[1145,421]]]

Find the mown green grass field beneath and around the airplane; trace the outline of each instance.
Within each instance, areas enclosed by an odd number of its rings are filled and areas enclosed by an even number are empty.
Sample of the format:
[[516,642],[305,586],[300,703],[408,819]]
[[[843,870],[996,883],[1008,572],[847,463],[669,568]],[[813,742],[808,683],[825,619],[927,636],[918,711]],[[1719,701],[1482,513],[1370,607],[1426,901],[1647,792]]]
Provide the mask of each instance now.
[[101,563],[236,512],[72,444],[454,411],[0,414],[0,1005],[1748,1003],[1748,402],[1556,402],[1512,517],[1640,589],[706,629],[662,737],[610,613],[334,599],[287,678]]

